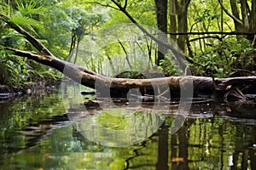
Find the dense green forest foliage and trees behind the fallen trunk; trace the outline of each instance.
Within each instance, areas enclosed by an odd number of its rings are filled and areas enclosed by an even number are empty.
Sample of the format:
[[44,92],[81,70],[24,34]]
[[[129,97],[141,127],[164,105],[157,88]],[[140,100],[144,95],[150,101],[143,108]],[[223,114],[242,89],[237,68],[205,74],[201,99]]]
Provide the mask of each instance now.
[[[128,55],[141,55],[143,58],[132,63],[126,59],[131,72],[126,72],[125,77],[140,77],[132,70],[140,68],[145,59],[148,59],[148,65],[157,66],[166,76],[178,74],[170,55],[165,53],[165,49],[159,53],[160,47],[157,48],[150,38],[144,46],[138,40],[129,43],[117,40],[97,54],[84,49],[93,48],[93,44],[88,47],[85,42],[95,38],[96,31],[131,22],[158,28],[167,35],[160,38],[169,42],[171,37],[173,42],[177,42],[195,76],[256,74],[256,3],[253,0],[4,0],[0,3],[0,14],[9,16],[12,22],[25,28],[58,58],[74,63],[84,59],[85,67],[101,74],[108,75],[103,68],[107,64],[119,73],[113,57]],[[0,84],[17,88],[35,84],[44,86],[46,80],[61,77],[44,65],[6,50],[4,47],[36,51],[2,20],[0,27]],[[101,41],[103,37],[98,39]],[[79,50],[84,50],[85,56],[79,55]]]

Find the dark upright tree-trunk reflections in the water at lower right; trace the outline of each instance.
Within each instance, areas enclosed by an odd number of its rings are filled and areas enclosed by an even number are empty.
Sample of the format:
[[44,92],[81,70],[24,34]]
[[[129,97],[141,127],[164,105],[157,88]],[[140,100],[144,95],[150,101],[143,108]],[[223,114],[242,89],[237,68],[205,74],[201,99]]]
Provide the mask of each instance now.
[[218,116],[189,118],[171,135],[171,124],[163,124],[156,135],[133,150],[126,169],[255,169],[256,127]]

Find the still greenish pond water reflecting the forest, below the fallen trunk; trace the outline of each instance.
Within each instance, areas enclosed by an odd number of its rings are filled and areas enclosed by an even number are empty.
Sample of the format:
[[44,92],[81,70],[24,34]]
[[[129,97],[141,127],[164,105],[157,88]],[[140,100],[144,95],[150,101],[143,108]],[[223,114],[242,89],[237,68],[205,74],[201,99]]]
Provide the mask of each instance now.
[[256,169],[255,105],[195,102],[173,133],[176,104],[122,117],[65,102],[60,89],[1,100],[0,169]]

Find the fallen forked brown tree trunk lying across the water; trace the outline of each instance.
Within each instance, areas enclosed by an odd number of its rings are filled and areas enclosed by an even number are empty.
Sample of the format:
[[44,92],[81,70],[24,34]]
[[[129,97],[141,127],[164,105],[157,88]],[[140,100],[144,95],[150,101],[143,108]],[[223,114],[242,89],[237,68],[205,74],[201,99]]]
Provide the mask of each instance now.
[[[256,84],[256,77],[233,77],[233,78],[212,78],[212,77],[159,77],[151,79],[127,79],[104,77],[96,72],[86,70],[78,65],[56,58],[43,43],[32,37],[27,31],[20,26],[12,23],[8,17],[0,14],[0,19],[7,23],[11,28],[18,31],[33,47],[37,48],[42,54],[36,54],[15,48],[5,48],[15,53],[15,55],[26,57],[55,68],[61,71],[67,77],[72,78],[75,82],[95,88],[100,96],[106,97],[126,97],[127,93],[136,88],[140,95],[190,97],[194,92],[197,94],[207,94],[208,96],[217,97],[226,100],[228,95],[235,95],[244,99],[239,88],[241,85],[249,84],[253,87]],[[237,88],[238,87],[238,88]],[[192,96],[191,96],[192,97]]]

